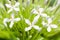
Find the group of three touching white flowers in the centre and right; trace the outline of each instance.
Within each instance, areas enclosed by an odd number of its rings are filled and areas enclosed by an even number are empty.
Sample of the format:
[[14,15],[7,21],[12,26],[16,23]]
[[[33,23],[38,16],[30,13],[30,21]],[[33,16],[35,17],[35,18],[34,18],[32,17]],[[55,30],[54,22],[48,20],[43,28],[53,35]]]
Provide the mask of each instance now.
[[42,28],[40,28],[39,26],[36,26],[34,24],[36,24],[36,22],[38,21],[39,17],[45,17],[48,21],[48,23],[46,23],[45,21],[42,21],[42,25],[44,27],[47,27],[47,31],[50,32],[51,28],[57,28],[56,24],[52,24],[52,18],[50,18],[47,14],[43,13],[44,9],[38,7],[38,9],[33,9],[32,13],[33,14],[37,14],[37,16],[34,18],[33,22],[31,23],[28,19],[25,20],[25,22],[30,25],[29,27],[25,28],[25,31],[29,31],[31,30],[31,28],[33,27],[34,29],[40,31]]

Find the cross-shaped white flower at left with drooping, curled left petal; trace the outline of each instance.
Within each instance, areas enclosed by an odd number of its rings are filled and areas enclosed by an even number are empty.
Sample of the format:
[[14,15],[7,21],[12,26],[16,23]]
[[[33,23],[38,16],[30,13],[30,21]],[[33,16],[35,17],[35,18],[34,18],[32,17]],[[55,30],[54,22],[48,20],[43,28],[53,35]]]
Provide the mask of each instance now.
[[7,22],[10,22],[9,27],[12,28],[12,26],[14,25],[14,22],[18,22],[18,21],[20,21],[20,18],[14,18],[14,14],[12,14],[10,19],[5,18],[3,22],[5,26],[7,26],[6,24]]

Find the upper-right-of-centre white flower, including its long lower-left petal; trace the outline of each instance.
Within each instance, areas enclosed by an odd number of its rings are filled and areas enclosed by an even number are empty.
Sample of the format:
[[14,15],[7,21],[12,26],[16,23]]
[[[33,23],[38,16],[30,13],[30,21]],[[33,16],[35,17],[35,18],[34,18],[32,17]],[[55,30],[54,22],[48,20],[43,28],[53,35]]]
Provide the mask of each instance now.
[[35,22],[35,21],[37,22],[40,16],[47,17],[47,14],[44,14],[43,11],[44,11],[44,9],[40,8],[39,6],[38,6],[37,9],[33,9],[32,10],[33,14],[37,14],[37,16],[34,17],[34,21],[33,22]]

